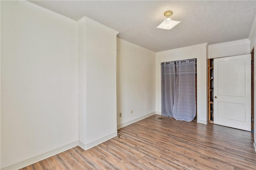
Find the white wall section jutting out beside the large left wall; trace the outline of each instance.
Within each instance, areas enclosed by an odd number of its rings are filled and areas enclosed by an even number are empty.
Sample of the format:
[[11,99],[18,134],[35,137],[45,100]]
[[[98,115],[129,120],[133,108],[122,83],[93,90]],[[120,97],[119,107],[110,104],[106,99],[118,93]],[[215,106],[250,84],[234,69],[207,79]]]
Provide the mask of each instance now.
[[[83,120],[80,121],[85,122],[85,129],[80,129],[79,136],[80,146],[90,149],[117,135],[116,35],[118,32],[86,17],[78,23],[79,33],[83,32],[83,35],[79,35],[79,39],[80,42],[83,41],[81,46],[85,48],[85,51],[80,51],[82,53],[80,57],[83,56],[84,59],[79,60],[82,61],[79,64],[81,80],[79,82],[82,86],[79,88],[83,92],[81,95],[86,95],[80,101],[80,105],[84,105],[80,106],[79,115],[83,115]],[[82,138],[81,135],[85,137]]]

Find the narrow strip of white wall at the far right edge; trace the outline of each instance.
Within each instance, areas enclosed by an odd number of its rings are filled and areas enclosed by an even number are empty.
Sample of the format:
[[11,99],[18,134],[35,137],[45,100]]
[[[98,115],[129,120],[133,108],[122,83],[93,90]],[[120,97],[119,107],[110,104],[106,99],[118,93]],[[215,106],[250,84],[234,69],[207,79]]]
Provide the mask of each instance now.
[[252,51],[254,47],[254,148],[256,151],[256,16],[252,23],[252,28],[248,38],[250,40],[250,51]]

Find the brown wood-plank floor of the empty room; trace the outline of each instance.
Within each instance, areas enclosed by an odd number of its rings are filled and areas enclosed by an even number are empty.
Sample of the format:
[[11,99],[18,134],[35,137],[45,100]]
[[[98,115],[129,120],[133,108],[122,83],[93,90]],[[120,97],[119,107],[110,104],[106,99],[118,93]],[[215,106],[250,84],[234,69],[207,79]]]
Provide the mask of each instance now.
[[22,170],[255,170],[253,133],[153,115],[92,149],[74,147]]

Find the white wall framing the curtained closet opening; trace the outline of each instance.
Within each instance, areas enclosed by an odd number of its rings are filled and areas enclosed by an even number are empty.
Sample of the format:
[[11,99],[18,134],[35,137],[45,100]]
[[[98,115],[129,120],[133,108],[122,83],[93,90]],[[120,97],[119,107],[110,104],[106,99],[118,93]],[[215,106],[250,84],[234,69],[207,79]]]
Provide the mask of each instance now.
[[207,114],[207,43],[156,53],[156,111],[161,114],[161,63],[184,59],[197,61],[197,122],[206,124]]

